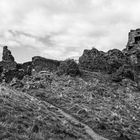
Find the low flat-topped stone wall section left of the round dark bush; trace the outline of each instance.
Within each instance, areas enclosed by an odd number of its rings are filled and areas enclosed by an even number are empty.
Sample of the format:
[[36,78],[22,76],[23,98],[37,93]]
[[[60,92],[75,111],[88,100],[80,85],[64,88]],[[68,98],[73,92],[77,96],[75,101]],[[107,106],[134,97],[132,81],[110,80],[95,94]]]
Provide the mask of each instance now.
[[57,60],[46,59],[40,56],[32,58],[32,66],[36,72],[39,71],[56,71],[60,62]]

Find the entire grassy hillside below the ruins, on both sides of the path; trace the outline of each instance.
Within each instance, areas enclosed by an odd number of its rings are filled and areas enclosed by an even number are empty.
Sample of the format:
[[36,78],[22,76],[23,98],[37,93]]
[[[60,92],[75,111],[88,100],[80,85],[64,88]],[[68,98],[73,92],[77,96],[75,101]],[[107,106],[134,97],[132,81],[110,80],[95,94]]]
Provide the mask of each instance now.
[[1,139],[140,139],[140,91],[131,80],[83,71],[75,78],[38,74],[11,87],[1,87]]

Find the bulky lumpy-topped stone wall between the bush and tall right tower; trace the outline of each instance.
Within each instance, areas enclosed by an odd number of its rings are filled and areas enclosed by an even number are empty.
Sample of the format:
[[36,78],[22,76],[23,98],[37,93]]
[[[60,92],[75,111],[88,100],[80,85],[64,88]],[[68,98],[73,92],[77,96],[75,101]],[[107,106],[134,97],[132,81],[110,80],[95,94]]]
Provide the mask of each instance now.
[[95,48],[84,50],[79,58],[79,66],[88,71],[113,73],[125,63],[124,54],[118,50],[109,50],[107,53]]

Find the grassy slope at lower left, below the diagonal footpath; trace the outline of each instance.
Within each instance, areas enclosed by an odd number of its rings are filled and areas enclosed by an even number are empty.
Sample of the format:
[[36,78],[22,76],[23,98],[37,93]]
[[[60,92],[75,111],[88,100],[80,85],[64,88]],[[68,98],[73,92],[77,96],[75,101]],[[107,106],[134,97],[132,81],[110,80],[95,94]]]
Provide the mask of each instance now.
[[57,108],[26,93],[0,86],[0,140],[87,140],[82,126]]

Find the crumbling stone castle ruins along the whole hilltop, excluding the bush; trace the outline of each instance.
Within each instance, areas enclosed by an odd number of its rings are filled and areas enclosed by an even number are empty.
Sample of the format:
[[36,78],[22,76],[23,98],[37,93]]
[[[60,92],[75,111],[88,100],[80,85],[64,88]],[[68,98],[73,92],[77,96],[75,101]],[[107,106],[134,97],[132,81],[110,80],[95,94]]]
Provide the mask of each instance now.
[[[12,73],[12,77],[15,75],[23,77],[24,75],[31,75],[33,70],[37,73],[40,71],[56,72],[61,63],[62,62],[58,60],[34,56],[31,61],[18,64],[8,47],[4,46],[0,68],[8,73],[11,71],[10,75]],[[130,30],[128,43],[123,51],[112,49],[108,52],[103,52],[96,48],[84,50],[83,55],[79,57],[78,66],[81,70],[107,74],[114,74],[119,71],[119,75],[127,75],[127,77],[124,76],[124,78],[131,77],[130,79],[140,81],[140,29]],[[127,72],[125,73],[124,71]],[[21,72],[22,76],[20,74]],[[135,78],[133,78],[132,75],[135,75]]]

